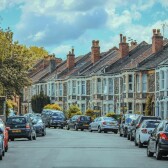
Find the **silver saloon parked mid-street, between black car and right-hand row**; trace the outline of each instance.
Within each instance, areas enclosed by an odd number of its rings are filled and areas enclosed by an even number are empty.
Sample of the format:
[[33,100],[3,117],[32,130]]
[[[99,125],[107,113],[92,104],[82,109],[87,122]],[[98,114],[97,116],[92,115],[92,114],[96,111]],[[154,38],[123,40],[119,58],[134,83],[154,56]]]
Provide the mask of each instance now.
[[118,121],[116,119],[112,117],[98,117],[90,123],[89,131],[98,131],[99,133],[101,133],[102,131],[104,131],[104,133],[112,131],[117,134],[118,127]]

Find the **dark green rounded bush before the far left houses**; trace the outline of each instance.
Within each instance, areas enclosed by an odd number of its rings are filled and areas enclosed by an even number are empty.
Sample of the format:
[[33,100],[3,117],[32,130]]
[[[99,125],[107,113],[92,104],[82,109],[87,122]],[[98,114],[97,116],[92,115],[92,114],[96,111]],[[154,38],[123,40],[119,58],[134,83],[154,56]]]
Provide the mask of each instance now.
[[50,98],[41,92],[39,95],[34,95],[31,99],[32,110],[36,113],[41,113],[44,106],[50,104]]

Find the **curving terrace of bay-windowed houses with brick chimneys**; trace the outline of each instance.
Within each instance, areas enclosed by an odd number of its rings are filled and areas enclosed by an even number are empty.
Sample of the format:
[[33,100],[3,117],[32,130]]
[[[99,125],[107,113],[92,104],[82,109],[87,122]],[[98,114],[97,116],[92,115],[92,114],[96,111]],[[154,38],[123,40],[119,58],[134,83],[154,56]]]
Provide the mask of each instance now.
[[83,113],[144,113],[149,100],[149,115],[168,118],[168,40],[159,29],[153,29],[152,44],[129,44],[120,34],[119,47],[101,52],[93,40],[86,55],[75,56],[72,48],[65,61],[48,56],[29,75],[32,86],[24,89],[22,104],[29,112],[32,95],[43,91],[64,110],[77,104]]

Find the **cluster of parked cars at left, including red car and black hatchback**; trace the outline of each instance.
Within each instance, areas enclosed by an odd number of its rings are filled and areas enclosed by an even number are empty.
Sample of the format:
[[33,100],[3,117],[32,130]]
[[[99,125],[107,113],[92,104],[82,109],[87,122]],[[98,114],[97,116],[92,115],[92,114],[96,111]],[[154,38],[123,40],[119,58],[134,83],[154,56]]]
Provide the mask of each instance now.
[[38,135],[46,135],[46,127],[41,117],[35,114],[24,116],[13,115],[7,118],[6,123],[0,119],[0,160],[8,151],[8,141],[16,138],[36,140]]

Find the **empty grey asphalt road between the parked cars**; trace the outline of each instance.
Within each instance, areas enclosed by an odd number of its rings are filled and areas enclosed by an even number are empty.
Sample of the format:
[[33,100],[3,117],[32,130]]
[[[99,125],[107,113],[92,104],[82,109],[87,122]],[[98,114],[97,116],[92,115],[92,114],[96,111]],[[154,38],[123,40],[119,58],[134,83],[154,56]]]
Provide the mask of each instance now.
[[0,161],[0,168],[167,168],[146,148],[113,133],[47,129],[36,141],[17,139]]

